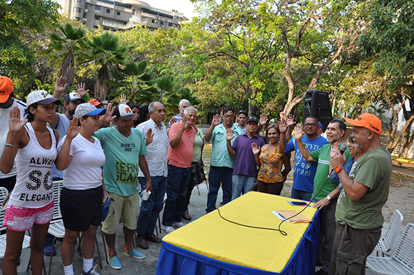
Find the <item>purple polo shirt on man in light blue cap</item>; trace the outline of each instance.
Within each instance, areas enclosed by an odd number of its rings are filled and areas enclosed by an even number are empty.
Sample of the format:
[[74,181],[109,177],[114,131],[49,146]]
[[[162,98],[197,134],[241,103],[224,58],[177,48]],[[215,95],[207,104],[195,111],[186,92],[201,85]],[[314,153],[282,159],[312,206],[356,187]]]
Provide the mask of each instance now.
[[235,142],[231,146],[237,152],[233,175],[257,176],[257,165],[252,150],[252,143],[262,147],[264,140],[257,134],[251,139],[248,138],[247,134],[241,134],[236,137]]

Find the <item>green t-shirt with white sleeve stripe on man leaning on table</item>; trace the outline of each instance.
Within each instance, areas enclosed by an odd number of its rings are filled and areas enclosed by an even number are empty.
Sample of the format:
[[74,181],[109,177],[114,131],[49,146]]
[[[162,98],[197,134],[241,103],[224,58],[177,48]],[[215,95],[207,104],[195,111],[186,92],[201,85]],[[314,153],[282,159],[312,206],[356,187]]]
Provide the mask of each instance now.
[[[349,154],[348,147],[346,148],[346,160],[351,159],[351,154]],[[312,159],[317,161],[317,169],[315,174],[315,179],[313,180],[313,194],[312,196],[315,196],[315,199],[317,201],[322,200],[322,198],[325,198],[329,193],[331,193],[338,185],[339,183],[333,183],[330,179],[328,179],[328,174],[331,172],[329,170],[329,163],[331,161],[331,156],[329,154],[331,153],[331,144],[325,144],[322,147],[320,147],[318,150],[315,150],[311,152]],[[331,167],[332,168],[335,167]],[[326,182],[326,179],[328,181]],[[326,182],[326,185],[324,186]],[[324,188],[321,190],[322,186]],[[319,192],[320,190],[320,192]],[[319,192],[319,194],[318,194]],[[333,198],[333,203],[336,202],[336,198]]]

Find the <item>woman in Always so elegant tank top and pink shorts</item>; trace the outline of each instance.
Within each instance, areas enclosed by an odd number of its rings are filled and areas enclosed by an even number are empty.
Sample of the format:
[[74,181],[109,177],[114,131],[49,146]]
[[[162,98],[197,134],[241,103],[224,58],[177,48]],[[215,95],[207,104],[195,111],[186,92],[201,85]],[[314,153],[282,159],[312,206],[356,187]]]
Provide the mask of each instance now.
[[25,121],[20,122],[17,107],[10,110],[9,132],[0,170],[4,174],[10,172],[16,158],[17,181],[4,215],[7,227],[4,275],[17,274],[21,243],[26,230],[30,229],[32,274],[42,272],[43,247],[53,216],[52,163],[57,156],[59,140],[59,134],[46,124],[53,121],[55,104],[61,104],[61,101],[40,90],[28,95],[28,119]]

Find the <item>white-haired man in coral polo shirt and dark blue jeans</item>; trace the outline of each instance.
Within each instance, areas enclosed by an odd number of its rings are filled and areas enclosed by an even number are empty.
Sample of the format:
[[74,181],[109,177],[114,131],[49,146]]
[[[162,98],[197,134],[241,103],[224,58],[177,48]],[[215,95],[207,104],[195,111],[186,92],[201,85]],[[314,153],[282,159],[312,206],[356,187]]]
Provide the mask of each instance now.
[[171,125],[168,145],[168,176],[167,201],[162,218],[162,229],[171,233],[172,225],[181,227],[184,223],[181,216],[184,212],[184,202],[190,183],[190,170],[193,161],[193,145],[195,134],[195,121],[197,109],[189,106],[184,110],[182,121]]

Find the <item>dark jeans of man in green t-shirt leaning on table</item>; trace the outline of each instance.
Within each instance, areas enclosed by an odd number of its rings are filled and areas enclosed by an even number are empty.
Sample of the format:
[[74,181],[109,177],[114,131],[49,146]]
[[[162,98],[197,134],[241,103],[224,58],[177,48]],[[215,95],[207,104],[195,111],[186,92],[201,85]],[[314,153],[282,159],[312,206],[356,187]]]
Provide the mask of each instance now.
[[335,240],[337,223],[335,221],[336,202],[331,202],[322,208],[319,214],[321,221],[321,235],[319,238],[319,256],[322,259],[321,269],[329,272],[331,265],[332,247]]

